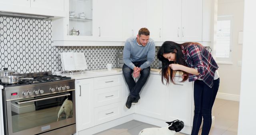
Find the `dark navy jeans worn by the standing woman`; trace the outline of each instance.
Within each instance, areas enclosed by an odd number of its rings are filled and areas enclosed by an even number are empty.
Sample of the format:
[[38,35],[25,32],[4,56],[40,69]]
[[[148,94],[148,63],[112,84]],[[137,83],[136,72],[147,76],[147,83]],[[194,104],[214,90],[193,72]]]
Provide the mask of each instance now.
[[202,134],[208,135],[212,125],[212,106],[220,85],[220,78],[213,81],[210,88],[204,81],[196,80],[194,82],[194,120],[191,135],[198,135],[202,117],[204,119]]

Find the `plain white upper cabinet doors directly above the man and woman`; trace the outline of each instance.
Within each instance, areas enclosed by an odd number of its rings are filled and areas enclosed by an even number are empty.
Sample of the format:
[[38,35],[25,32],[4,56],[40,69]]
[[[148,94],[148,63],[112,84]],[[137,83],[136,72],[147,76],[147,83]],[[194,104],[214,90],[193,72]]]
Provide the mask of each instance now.
[[146,27],[156,42],[202,41],[203,0],[124,0],[123,38]]

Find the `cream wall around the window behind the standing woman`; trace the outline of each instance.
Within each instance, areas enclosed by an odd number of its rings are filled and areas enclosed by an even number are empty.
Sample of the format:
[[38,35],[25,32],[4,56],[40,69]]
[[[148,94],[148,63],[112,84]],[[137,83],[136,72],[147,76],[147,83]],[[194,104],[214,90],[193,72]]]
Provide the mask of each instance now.
[[220,87],[217,98],[239,101],[242,44],[238,44],[238,32],[243,30],[244,0],[218,0],[218,16],[233,16],[232,63],[218,64]]

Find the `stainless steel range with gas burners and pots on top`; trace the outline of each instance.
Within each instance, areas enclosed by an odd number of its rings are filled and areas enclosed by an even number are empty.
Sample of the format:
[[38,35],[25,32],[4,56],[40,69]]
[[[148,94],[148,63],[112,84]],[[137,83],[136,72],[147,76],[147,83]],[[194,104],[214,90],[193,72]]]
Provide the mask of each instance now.
[[19,74],[3,84],[5,135],[70,135],[76,132],[75,80],[51,72]]

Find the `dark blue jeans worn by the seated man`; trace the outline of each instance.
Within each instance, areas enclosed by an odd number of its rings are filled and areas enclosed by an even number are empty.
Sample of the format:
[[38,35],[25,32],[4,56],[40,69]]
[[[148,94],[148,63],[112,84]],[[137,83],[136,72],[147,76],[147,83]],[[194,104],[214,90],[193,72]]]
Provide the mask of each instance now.
[[[146,61],[144,61],[146,62]],[[140,67],[142,64],[144,64],[144,62],[132,62],[136,67]],[[142,89],[142,87],[144,86],[144,84],[146,83],[147,79],[148,79],[148,75],[150,73],[150,67],[147,67],[145,69],[143,69],[142,71],[140,71],[140,78],[138,79],[137,82],[134,81],[134,79],[132,78],[132,72],[133,69],[131,69],[130,67],[126,66],[124,64],[123,68],[123,74],[124,74],[124,79],[129,87],[130,90],[130,95],[133,98],[136,98],[139,96],[140,90]]]

